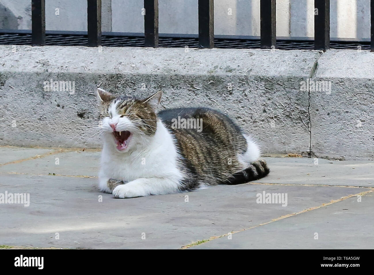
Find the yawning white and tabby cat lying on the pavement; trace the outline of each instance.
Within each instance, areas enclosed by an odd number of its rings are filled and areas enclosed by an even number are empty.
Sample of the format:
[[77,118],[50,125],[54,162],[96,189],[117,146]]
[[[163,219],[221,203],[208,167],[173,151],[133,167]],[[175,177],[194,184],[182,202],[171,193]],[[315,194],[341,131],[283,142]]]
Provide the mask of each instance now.
[[142,100],[97,92],[103,192],[134,198],[246,183],[269,174],[259,146],[219,111],[201,107],[156,113],[161,91]]

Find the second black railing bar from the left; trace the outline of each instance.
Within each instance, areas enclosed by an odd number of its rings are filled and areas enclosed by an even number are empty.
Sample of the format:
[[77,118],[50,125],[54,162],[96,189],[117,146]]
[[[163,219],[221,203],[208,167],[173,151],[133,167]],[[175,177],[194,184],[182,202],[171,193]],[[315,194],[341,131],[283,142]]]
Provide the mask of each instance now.
[[101,45],[101,0],[87,0],[88,46]]

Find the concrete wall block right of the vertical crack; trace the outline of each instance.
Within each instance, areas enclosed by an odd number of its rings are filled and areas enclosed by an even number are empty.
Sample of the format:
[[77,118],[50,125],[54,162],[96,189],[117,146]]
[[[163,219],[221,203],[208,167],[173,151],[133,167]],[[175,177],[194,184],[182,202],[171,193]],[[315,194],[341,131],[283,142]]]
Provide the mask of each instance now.
[[331,50],[313,80],[331,91],[311,91],[312,151],[338,159],[374,158],[374,54]]

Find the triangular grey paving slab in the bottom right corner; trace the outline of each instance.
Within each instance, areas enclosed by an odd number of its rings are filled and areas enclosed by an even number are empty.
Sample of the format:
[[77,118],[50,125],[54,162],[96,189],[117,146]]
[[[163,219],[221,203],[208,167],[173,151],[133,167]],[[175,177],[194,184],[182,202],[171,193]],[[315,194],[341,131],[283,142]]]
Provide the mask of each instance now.
[[373,249],[373,208],[373,195],[352,197],[190,249]]

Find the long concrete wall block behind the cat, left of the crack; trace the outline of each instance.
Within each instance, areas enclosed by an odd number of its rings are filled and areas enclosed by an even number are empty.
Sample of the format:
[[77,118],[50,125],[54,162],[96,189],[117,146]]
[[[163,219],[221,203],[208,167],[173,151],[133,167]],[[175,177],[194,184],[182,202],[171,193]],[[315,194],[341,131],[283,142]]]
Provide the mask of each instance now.
[[[265,152],[309,149],[308,92],[318,52],[184,48],[0,46],[0,144],[98,147],[77,126],[96,123],[96,86],[162,105],[209,106],[236,120]],[[46,92],[46,80],[75,82],[76,91]],[[13,127],[12,127],[13,125]]]

